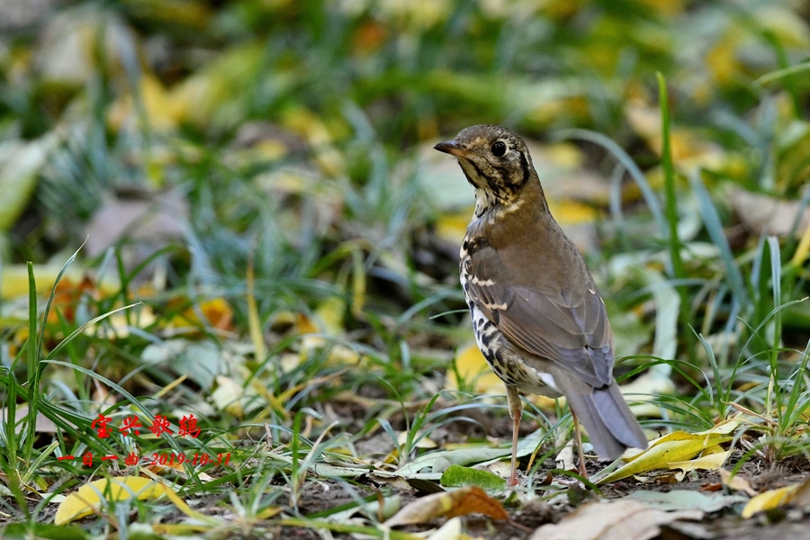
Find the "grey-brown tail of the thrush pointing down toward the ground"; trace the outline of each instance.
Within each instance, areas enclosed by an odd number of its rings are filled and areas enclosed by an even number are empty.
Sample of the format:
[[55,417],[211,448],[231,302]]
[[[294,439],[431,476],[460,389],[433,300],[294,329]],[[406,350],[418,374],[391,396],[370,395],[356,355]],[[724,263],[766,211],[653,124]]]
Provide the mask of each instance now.
[[628,447],[647,447],[647,437],[615,381],[591,392],[578,390],[564,392],[565,397],[599,455],[617,459]]

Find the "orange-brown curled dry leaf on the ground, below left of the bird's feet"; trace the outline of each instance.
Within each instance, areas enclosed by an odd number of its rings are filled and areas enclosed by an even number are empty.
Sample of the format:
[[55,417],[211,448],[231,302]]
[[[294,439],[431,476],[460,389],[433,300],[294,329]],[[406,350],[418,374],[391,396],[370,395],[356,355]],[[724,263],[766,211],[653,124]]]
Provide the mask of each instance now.
[[455,518],[476,513],[492,519],[509,519],[509,514],[500,502],[492,499],[478,486],[469,486],[414,500],[386,521],[385,525],[415,525],[428,523],[436,518]]

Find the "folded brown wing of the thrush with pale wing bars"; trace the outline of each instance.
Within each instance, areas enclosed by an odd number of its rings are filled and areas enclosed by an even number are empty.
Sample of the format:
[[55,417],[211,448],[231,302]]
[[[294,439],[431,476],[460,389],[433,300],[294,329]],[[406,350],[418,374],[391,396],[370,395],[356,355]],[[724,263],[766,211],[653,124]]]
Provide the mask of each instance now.
[[518,347],[596,388],[611,383],[613,338],[596,286],[561,290],[541,277],[516,283],[508,268],[491,247],[473,253],[467,297]]

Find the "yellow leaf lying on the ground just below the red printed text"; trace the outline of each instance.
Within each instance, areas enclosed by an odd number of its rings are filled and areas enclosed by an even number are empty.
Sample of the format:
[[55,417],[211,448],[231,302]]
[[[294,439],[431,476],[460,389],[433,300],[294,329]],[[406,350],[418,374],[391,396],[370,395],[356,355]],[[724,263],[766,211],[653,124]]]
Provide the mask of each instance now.
[[85,484],[78,491],[69,494],[59,504],[53,523],[54,525],[64,525],[74,519],[90,516],[107,506],[106,502],[102,502],[102,497],[109,501],[128,500],[132,497],[147,500],[157,499],[163,493],[162,484],[141,476],[103,478]]

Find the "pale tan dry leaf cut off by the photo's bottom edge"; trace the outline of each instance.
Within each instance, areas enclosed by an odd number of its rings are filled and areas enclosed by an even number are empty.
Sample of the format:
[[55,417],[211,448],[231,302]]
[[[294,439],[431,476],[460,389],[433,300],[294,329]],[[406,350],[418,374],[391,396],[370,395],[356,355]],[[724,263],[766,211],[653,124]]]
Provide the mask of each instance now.
[[574,510],[557,524],[538,528],[530,540],[649,540],[661,526],[680,519],[703,518],[698,510],[666,512],[635,500],[591,502]]

